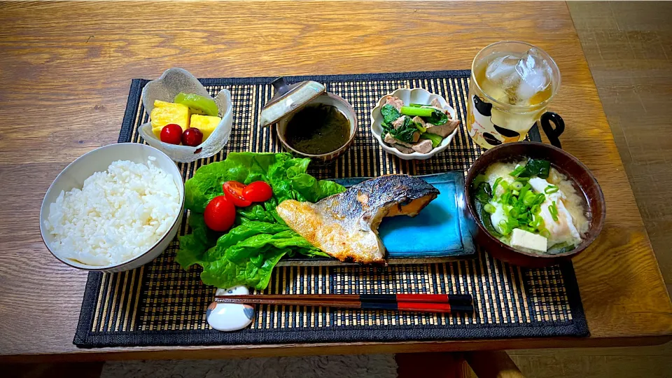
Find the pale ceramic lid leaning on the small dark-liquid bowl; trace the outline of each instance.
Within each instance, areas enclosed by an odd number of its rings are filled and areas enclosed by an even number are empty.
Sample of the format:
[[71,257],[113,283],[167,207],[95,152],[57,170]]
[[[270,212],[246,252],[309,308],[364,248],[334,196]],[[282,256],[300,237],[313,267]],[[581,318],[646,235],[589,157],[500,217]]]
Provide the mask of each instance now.
[[285,78],[276,78],[271,84],[275,88],[275,95],[261,110],[259,123],[262,127],[273,125],[281,118],[295,113],[326,91],[324,85],[312,80],[288,85]]

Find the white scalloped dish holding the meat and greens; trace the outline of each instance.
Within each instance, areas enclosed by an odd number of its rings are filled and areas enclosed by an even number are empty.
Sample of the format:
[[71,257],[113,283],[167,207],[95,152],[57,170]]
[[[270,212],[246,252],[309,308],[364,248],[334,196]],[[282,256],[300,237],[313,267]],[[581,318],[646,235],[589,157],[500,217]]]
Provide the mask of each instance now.
[[454,132],[452,132],[448,137],[445,137],[443,141],[441,141],[441,144],[439,146],[433,148],[433,150],[429,151],[428,153],[418,153],[418,152],[402,153],[398,149],[392,146],[388,146],[383,142],[382,137],[383,128],[380,125],[383,120],[383,115],[380,113],[380,109],[383,107],[385,103],[384,99],[387,96],[398,97],[404,102],[404,104],[429,104],[433,99],[438,99],[439,103],[441,104],[441,107],[443,109],[448,110],[453,119],[456,119],[456,113],[455,109],[453,109],[452,106],[450,106],[448,102],[446,102],[446,99],[439,96],[438,94],[427,92],[422,88],[414,88],[414,89],[399,88],[398,90],[395,90],[390,94],[386,94],[381,99],[379,99],[377,106],[371,111],[371,132],[373,133],[373,136],[376,137],[378,143],[385,151],[391,153],[392,155],[396,155],[399,158],[402,158],[403,160],[413,160],[413,159],[426,160],[436,155],[437,153],[444,151],[446,148],[448,148],[448,145],[451,143],[451,141],[453,141],[455,134],[457,134],[459,128],[461,127],[461,125],[456,127]]

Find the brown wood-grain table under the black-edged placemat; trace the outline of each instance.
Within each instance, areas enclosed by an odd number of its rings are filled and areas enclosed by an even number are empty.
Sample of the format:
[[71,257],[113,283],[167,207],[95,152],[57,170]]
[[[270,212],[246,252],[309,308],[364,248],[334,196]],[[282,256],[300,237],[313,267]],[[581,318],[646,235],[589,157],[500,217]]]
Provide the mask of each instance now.
[[[575,259],[591,337],[458,342],[76,349],[85,272],[38,230],[42,197],[83,153],[115,143],[132,78],[468,69],[528,41],[556,59],[563,146],[596,175],[601,237]],[[672,304],[565,3],[2,3],[0,360],[221,358],[658,344]]]

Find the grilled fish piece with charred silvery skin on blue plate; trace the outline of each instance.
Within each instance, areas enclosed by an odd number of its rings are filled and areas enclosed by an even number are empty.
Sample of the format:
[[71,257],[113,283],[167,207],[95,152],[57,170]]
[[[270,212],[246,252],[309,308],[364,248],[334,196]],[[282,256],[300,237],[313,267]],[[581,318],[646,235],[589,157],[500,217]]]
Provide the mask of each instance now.
[[311,204],[286,200],[276,211],[287,225],[344,262],[384,263],[378,225],[386,216],[416,216],[439,191],[416,177],[394,174],[352,186]]

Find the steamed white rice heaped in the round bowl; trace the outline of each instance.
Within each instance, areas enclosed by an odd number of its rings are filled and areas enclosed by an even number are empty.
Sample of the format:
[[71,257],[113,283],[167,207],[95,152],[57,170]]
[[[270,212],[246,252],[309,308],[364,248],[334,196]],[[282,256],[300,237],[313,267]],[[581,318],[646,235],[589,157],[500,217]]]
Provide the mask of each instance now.
[[62,191],[44,221],[54,252],[103,266],[130,260],[161,239],[179,214],[180,195],[173,177],[151,160],[118,160],[81,190]]

